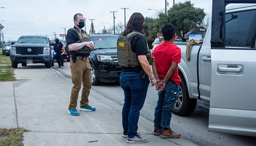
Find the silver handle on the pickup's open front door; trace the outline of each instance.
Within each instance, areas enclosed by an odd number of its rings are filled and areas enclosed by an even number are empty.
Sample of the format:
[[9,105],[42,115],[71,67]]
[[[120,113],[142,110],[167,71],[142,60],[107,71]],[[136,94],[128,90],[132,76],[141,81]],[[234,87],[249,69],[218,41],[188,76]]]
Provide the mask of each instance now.
[[219,74],[241,75],[242,71],[241,65],[218,65]]

